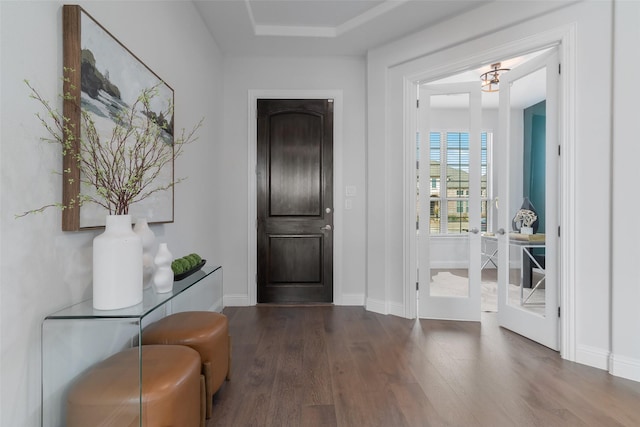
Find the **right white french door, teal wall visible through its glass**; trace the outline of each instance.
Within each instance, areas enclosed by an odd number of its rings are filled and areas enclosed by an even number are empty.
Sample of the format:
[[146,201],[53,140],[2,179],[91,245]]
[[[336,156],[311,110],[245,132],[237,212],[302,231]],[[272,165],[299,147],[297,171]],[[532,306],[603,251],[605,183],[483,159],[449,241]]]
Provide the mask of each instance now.
[[[559,315],[558,80],[557,48],[502,76],[497,149],[498,323],[554,350]],[[532,87],[541,87],[543,95],[523,104]]]

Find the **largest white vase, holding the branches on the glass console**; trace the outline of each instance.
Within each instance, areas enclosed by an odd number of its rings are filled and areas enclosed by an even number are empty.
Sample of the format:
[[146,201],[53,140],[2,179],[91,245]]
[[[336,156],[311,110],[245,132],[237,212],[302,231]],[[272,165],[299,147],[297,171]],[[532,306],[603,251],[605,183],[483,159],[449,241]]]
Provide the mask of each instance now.
[[130,215],[108,215],[93,239],[93,308],[116,310],[142,301],[142,240]]

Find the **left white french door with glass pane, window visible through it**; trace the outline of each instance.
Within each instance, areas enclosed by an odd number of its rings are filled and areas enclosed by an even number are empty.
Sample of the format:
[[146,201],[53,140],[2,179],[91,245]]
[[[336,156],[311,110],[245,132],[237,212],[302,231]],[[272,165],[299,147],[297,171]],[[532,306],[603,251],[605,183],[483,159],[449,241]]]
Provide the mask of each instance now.
[[[442,132],[439,105],[453,98],[456,122]],[[419,100],[418,315],[479,321],[480,82],[421,85]],[[438,264],[445,250],[455,260]]]

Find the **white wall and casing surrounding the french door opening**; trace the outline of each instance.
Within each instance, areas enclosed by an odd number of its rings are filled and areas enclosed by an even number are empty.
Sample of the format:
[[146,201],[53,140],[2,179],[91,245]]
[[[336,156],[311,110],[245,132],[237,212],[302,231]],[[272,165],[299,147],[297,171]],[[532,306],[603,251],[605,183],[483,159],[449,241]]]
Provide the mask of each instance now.
[[[625,7],[633,9],[636,6]],[[633,10],[635,13],[635,9]],[[633,20],[627,19],[629,20],[625,20],[626,26],[619,28],[616,33],[616,43],[623,43],[624,40],[624,43],[633,46],[637,44],[637,33],[628,31]],[[575,108],[571,112],[573,116],[566,116],[563,123],[565,126],[573,126],[570,133],[575,136],[575,145],[572,145],[573,151],[564,154],[567,156],[565,158],[570,157],[568,161],[574,167],[574,187],[571,194],[565,194],[564,197],[572,198],[575,217],[568,219],[574,233],[564,234],[564,238],[573,239],[570,242],[571,247],[575,248],[570,254],[570,267],[573,269],[565,273],[576,286],[575,294],[572,296],[575,313],[571,313],[571,318],[567,319],[575,324],[574,354],[565,357],[569,356],[591,366],[608,368],[610,340],[618,335],[618,331],[623,336],[628,336],[629,332],[627,327],[618,329],[620,326],[617,326],[617,323],[620,322],[612,324],[610,312],[612,244],[611,233],[606,224],[610,224],[612,219],[607,200],[611,184],[612,94],[609,84],[593,84],[595,81],[609,82],[611,78],[611,69],[607,66],[611,58],[611,21],[611,1],[585,1],[575,4],[563,1],[495,2],[369,53],[367,162],[369,170],[375,170],[377,173],[369,174],[367,181],[368,308],[386,313],[405,312],[402,255],[404,242],[401,225],[403,79],[410,79],[419,72],[430,73],[436,78],[447,66],[462,69],[465,63],[469,65],[474,59],[483,59],[484,63],[490,63],[491,59],[500,59],[491,58],[491,50],[488,50],[487,46],[497,49],[501,45],[512,47],[517,42],[521,46],[533,48],[532,38],[537,34],[569,34],[568,37],[575,40],[575,51],[568,52],[575,58],[575,70],[563,69],[565,74],[575,72],[575,79],[567,79],[565,82],[573,88],[575,100],[570,102],[573,102]],[[480,58],[478,52],[485,52],[485,57]],[[628,65],[626,62],[624,64]],[[637,66],[637,63],[633,65]],[[634,66],[629,68],[635,70]],[[631,77],[628,79],[631,81]],[[620,101],[622,108],[629,105],[635,107],[635,97],[631,95]],[[630,133],[631,129],[620,125],[621,132]],[[616,156],[633,158],[629,155],[632,150],[629,147],[622,142],[617,144],[615,148],[619,148],[619,151],[616,151]],[[621,175],[619,181],[632,186],[637,182],[631,172],[634,168],[630,166],[626,169],[629,172],[618,169],[616,173]],[[626,190],[625,196],[633,193],[632,187]],[[617,194],[620,195],[621,192]],[[594,203],[594,195],[603,196],[602,203]],[[625,208],[622,202],[613,207],[614,215],[619,210],[621,212],[618,215],[621,218],[628,213],[628,207]],[[625,238],[618,242],[616,238],[620,239],[623,231],[619,228],[616,230],[618,233],[614,234],[613,246],[620,251],[627,251],[633,240]],[[635,282],[629,281],[631,273],[625,271],[618,273],[616,270],[613,275],[620,280],[615,282],[614,288],[620,295],[620,307],[616,307],[616,310],[621,309],[629,315],[633,311],[629,304],[633,304],[637,298],[626,297],[637,293],[637,279]],[[633,286],[635,288],[632,290]],[[635,314],[630,319],[633,320],[632,324],[637,326],[638,315]],[[615,328],[613,333],[612,327]],[[620,348],[622,354],[630,352],[629,357],[634,362],[640,360],[637,347]]]

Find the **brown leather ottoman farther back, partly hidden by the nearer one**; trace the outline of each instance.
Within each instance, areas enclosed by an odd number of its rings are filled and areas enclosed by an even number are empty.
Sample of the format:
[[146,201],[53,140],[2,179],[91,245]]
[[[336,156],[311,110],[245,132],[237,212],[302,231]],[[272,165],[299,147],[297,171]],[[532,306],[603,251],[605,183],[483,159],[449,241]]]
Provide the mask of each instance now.
[[212,311],[185,311],[170,314],[142,331],[143,344],[180,344],[198,353],[202,359],[206,389],[206,417],[213,412],[213,395],[229,380],[231,337],[227,316]]

